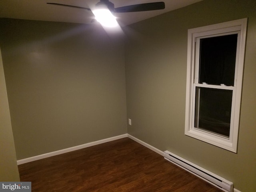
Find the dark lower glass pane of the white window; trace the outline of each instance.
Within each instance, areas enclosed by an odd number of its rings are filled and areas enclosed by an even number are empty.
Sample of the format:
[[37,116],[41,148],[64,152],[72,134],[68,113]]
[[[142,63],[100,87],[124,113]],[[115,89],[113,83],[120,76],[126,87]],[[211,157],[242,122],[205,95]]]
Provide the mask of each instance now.
[[195,127],[229,137],[232,90],[196,88]]

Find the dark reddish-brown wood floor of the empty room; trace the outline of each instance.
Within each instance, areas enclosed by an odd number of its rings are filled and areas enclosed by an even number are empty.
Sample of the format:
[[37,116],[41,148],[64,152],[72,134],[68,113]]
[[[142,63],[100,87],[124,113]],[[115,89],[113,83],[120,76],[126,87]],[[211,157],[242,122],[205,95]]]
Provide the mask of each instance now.
[[32,192],[222,192],[129,138],[18,168]]

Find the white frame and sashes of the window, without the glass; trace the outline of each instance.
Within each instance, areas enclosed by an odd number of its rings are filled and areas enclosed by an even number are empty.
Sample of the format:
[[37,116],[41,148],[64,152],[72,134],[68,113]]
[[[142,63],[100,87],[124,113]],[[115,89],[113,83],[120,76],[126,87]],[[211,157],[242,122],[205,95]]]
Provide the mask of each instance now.
[[[204,26],[188,30],[188,58],[186,84],[185,135],[237,152],[244,54],[246,44],[247,18]],[[208,36],[238,34],[234,86],[221,86],[198,83],[199,40]],[[230,119],[230,136],[224,137],[194,127],[195,89],[198,87],[232,90],[232,109]]]

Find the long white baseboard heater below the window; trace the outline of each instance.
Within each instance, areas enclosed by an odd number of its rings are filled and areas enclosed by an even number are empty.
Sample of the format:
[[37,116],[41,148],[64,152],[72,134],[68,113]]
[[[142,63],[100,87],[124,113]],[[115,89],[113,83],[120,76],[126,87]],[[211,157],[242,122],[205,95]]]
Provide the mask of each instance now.
[[232,182],[205,170],[196,164],[193,164],[169,151],[164,151],[164,158],[225,192],[234,192],[234,185]]

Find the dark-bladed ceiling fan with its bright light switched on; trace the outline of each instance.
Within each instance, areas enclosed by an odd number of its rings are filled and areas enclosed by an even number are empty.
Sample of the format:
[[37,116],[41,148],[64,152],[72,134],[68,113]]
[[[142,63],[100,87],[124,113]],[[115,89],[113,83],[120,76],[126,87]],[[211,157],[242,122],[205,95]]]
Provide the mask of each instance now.
[[95,5],[95,8],[93,9],[80,7],[80,6],[73,6],[68,4],[51,3],[51,2],[48,2],[47,4],[66,6],[71,8],[79,8],[79,9],[92,11],[96,17],[96,20],[98,20],[102,25],[105,25],[105,26],[106,26],[105,22],[111,23],[110,24],[111,26],[116,26],[117,22],[116,22],[116,18],[113,15],[114,13],[152,11],[152,10],[161,10],[165,8],[164,2],[134,4],[134,5],[115,8],[114,4],[109,0],[100,0],[100,2],[98,2]]

